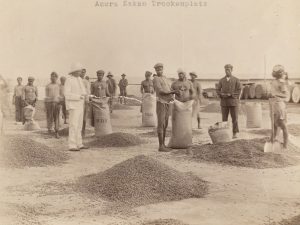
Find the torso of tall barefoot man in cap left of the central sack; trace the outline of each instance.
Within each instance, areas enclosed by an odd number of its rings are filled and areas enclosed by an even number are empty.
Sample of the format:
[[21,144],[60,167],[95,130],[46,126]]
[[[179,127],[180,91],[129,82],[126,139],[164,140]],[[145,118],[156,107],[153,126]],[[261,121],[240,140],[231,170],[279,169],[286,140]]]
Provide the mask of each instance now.
[[161,103],[169,103],[172,95],[162,95],[160,92],[170,92],[171,85],[165,76],[156,76],[153,79],[153,86],[156,92],[156,100]]

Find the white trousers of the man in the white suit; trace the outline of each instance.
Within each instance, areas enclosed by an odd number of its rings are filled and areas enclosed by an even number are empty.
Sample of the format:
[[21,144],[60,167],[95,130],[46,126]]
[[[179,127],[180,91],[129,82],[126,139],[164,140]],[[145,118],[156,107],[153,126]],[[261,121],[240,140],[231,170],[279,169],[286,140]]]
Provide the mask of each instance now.
[[83,104],[69,110],[69,148],[80,148],[82,144],[81,129],[83,124]]

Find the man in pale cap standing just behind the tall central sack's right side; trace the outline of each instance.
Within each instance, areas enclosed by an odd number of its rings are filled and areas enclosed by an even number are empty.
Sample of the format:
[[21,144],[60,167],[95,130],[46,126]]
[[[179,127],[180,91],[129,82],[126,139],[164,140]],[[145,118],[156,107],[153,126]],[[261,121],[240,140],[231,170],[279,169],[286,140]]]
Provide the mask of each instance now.
[[199,81],[196,80],[197,73],[196,72],[190,72],[191,82],[193,84],[193,88],[195,91],[195,98],[193,103],[193,117],[197,116],[197,122],[198,122],[198,129],[201,129],[200,125],[200,104],[202,99],[202,88]]

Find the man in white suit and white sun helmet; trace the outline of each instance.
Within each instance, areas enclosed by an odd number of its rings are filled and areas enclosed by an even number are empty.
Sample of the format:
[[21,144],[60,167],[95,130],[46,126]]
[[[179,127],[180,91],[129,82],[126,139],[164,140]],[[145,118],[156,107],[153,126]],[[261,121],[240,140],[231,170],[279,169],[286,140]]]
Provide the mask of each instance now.
[[80,63],[72,64],[70,76],[65,83],[66,108],[69,111],[69,150],[79,151],[88,147],[82,144],[81,129],[83,123],[84,100],[87,96],[80,78],[84,68]]

